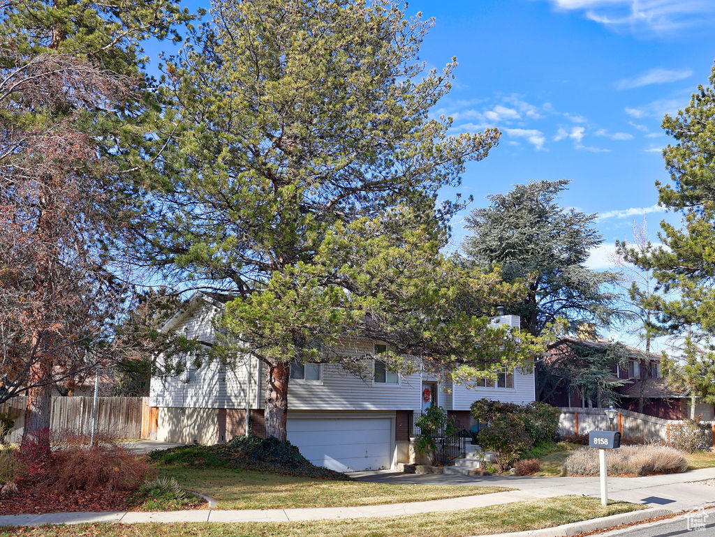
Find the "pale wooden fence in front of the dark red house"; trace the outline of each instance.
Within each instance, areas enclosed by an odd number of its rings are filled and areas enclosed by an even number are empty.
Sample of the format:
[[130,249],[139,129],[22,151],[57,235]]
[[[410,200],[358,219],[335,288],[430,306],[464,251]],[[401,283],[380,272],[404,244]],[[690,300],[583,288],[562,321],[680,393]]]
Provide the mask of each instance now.
[[[562,407],[558,420],[558,431],[562,435],[588,434],[590,431],[608,431],[611,423],[603,413],[605,408]],[[618,416],[613,420],[613,428],[620,431],[623,438],[644,438],[654,442],[667,442],[671,428],[686,423],[683,420],[656,418],[639,412],[618,408]],[[715,448],[715,421],[701,421],[711,435],[711,445]]]

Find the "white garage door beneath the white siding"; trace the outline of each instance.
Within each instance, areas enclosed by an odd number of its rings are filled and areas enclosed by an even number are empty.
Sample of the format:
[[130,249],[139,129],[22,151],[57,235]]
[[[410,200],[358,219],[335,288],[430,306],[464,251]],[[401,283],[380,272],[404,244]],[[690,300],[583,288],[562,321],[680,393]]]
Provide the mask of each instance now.
[[288,441],[316,466],[341,472],[390,468],[390,418],[288,418]]

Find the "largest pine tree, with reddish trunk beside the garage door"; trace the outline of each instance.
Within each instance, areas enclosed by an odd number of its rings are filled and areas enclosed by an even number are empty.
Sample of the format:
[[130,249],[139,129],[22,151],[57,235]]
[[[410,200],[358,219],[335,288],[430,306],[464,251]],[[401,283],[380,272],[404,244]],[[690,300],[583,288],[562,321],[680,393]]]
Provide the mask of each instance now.
[[438,190],[499,133],[448,136],[430,118],[456,66],[425,76],[416,61],[431,21],[363,0],[218,0],[212,16],[167,62],[182,129],[143,254],[235,294],[214,353],[264,364],[267,436],[285,439],[292,361],[372,375],[351,337],[384,341],[401,371],[404,355],[460,380],[521,363],[531,340],[487,316],[516,286],[439,253],[461,204],[435,206]]

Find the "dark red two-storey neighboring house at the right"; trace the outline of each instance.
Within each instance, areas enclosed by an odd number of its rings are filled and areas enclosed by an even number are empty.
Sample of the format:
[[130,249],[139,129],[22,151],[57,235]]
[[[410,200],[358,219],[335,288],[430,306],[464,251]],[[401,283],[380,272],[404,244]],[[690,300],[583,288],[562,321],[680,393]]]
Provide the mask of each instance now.
[[[571,367],[583,367],[579,358],[584,353],[611,353],[620,356],[609,363],[611,376],[606,378],[616,386],[614,401],[598,401],[593,391],[585,393],[583,389],[573,388],[568,381],[568,375],[551,379],[550,386],[541,390],[541,401],[553,406],[594,407],[611,403],[619,408],[641,412],[649,416],[666,419],[682,419],[689,417],[690,398],[687,392],[681,393],[668,386],[661,377],[661,356],[646,353],[638,348],[629,347],[615,341],[603,338],[589,339],[583,337],[563,337],[549,346],[541,371]],[[550,367],[558,363],[558,368]],[[540,375],[543,381],[544,375]],[[702,414],[703,419],[713,419],[713,406],[696,404],[696,416]]]

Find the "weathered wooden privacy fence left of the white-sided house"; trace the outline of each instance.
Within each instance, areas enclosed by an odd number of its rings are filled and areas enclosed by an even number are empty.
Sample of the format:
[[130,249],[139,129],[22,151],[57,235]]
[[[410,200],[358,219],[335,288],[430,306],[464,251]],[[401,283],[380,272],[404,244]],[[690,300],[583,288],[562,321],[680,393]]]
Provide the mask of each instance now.
[[[51,404],[51,431],[71,431],[85,435],[92,431],[92,397],[53,397]],[[5,441],[21,441],[24,410],[24,397],[0,404],[0,412],[10,412],[17,416],[15,426]],[[148,397],[99,397],[97,431],[114,438],[156,438],[157,410],[149,407]]]

